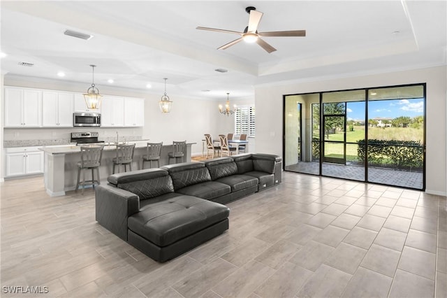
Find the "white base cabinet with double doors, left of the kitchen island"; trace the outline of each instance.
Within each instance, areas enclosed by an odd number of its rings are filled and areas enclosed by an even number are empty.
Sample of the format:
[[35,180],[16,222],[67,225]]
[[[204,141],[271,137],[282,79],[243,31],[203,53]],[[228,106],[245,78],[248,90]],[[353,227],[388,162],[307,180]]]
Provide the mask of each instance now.
[[6,177],[43,173],[43,151],[37,147],[6,148]]

